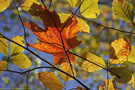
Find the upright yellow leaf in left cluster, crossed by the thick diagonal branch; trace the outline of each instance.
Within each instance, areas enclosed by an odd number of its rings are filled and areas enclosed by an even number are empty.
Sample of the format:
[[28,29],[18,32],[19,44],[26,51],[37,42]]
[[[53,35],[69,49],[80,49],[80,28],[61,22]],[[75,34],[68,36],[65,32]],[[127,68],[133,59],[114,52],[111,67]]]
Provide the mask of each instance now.
[[[19,43],[22,46],[25,46],[23,36],[13,37],[12,40],[15,41],[16,43]],[[24,48],[20,47],[19,45],[15,44],[13,42],[11,42],[10,48],[11,48],[10,53],[11,53],[12,56],[16,55],[16,54],[19,54],[19,53],[22,53],[24,51]]]

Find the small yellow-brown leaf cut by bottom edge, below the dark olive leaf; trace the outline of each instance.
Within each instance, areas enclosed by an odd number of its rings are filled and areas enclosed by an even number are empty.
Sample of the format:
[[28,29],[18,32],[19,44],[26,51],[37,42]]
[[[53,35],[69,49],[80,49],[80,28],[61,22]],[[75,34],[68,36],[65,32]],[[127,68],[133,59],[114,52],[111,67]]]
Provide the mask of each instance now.
[[109,79],[104,81],[106,90],[117,90],[116,82],[114,79]]

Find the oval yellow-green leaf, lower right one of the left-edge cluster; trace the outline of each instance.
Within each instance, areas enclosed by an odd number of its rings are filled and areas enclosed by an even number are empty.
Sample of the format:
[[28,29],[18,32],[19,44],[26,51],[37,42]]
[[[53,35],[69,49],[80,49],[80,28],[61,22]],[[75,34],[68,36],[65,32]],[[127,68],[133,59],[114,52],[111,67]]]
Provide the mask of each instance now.
[[24,54],[14,55],[11,58],[11,62],[21,69],[27,69],[32,65],[30,59]]

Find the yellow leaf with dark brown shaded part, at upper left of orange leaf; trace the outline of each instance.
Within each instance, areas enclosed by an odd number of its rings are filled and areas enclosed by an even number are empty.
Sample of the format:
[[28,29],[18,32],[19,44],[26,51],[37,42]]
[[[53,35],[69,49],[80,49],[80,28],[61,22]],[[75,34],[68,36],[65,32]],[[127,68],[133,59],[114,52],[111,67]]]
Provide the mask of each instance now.
[[39,16],[42,6],[37,0],[26,0],[22,5],[22,9],[27,11],[32,16]]

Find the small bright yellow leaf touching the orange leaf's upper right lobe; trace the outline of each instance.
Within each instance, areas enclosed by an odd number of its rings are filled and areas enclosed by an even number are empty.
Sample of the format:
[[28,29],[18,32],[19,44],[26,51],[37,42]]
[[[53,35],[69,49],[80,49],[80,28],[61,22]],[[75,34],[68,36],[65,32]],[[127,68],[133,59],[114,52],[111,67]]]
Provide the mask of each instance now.
[[80,32],[89,33],[90,27],[89,25],[81,18],[77,17],[78,25],[81,27]]

